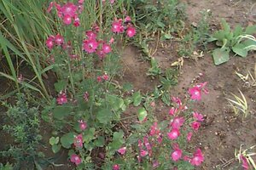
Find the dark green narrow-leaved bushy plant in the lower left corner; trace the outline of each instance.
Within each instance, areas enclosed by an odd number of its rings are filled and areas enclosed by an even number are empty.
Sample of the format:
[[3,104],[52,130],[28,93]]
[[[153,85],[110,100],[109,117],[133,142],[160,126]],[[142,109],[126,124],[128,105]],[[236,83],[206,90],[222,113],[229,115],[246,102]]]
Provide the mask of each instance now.
[[39,112],[37,107],[30,107],[24,94],[17,95],[15,105],[8,105],[3,130],[14,140],[9,149],[1,151],[1,156],[11,156],[15,160],[15,168],[32,168],[40,156],[38,144],[42,139],[39,134]]

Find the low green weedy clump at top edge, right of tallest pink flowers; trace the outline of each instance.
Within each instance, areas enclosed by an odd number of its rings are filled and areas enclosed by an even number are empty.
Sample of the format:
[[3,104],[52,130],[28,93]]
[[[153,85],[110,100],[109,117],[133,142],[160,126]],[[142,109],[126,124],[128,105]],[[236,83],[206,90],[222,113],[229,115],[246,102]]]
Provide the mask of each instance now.
[[186,19],[184,5],[178,0],[164,1],[131,1],[131,9],[136,18],[137,37],[132,42],[143,51],[145,57],[154,53],[148,48],[148,41],[169,40],[173,32],[180,32],[184,28]]

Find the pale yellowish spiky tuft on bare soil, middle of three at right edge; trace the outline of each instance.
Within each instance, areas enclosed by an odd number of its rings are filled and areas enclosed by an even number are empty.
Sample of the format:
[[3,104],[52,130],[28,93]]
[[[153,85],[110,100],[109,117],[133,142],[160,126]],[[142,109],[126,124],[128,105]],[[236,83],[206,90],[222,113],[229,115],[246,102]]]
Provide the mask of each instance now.
[[232,94],[234,96],[235,99],[228,99],[230,106],[233,108],[236,116],[239,115],[239,113],[241,112],[243,117],[247,117],[248,116],[248,105],[247,105],[247,99],[245,98],[245,96],[241,93],[241,90],[239,90],[240,94],[241,94],[241,98],[239,98],[238,96],[236,96],[236,94]]

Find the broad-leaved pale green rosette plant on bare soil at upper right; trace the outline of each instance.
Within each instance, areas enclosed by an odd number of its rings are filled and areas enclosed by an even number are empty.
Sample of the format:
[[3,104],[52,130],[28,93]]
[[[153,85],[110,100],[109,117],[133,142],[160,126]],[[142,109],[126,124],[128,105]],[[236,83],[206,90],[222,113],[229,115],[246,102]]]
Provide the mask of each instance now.
[[212,37],[209,38],[209,42],[215,42],[220,48],[216,48],[212,51],[212,57],[215,65],[220,65],[230,60],[230,51],[235,55],[245,58],[248,51],[255,50],[255,41],[250,38],[251,35],[256,33],[256,26],[247,26],[242,28],[236,26],[234,30],[231,30],[230,25],[221,20],[222,29],[215,31]]

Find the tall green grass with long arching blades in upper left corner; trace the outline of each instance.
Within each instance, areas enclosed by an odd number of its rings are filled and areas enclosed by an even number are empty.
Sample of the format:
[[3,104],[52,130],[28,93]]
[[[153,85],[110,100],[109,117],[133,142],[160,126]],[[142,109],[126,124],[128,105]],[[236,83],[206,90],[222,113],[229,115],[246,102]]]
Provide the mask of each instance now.
[[[18,91],[23,87],[31,88],[39,92],[44,99],[49,99],[49,93],[42,75],[51,69],[50,66],[42,67],[42,57],[46,54],[44,38],[55,28],[55,22],[44,14],[43,7],[47,4],[48,0],[2,0],[0,2],[0,50],[9,67],[9,72],[0,72],[0,76],[14,81]],[[18,81],[19,67],[15,67],[14,60],[25,61],[31,66],[35,75],[32,80]]]

